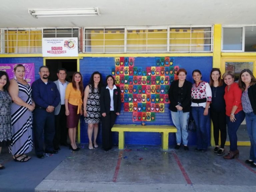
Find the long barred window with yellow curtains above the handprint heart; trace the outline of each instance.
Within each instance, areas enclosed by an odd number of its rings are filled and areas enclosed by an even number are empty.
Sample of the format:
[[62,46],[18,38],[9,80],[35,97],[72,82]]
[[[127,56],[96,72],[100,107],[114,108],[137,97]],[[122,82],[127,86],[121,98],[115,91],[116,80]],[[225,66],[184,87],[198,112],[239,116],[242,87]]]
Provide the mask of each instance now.
[[84,27],[85,53],[212,52],[213,26]]

